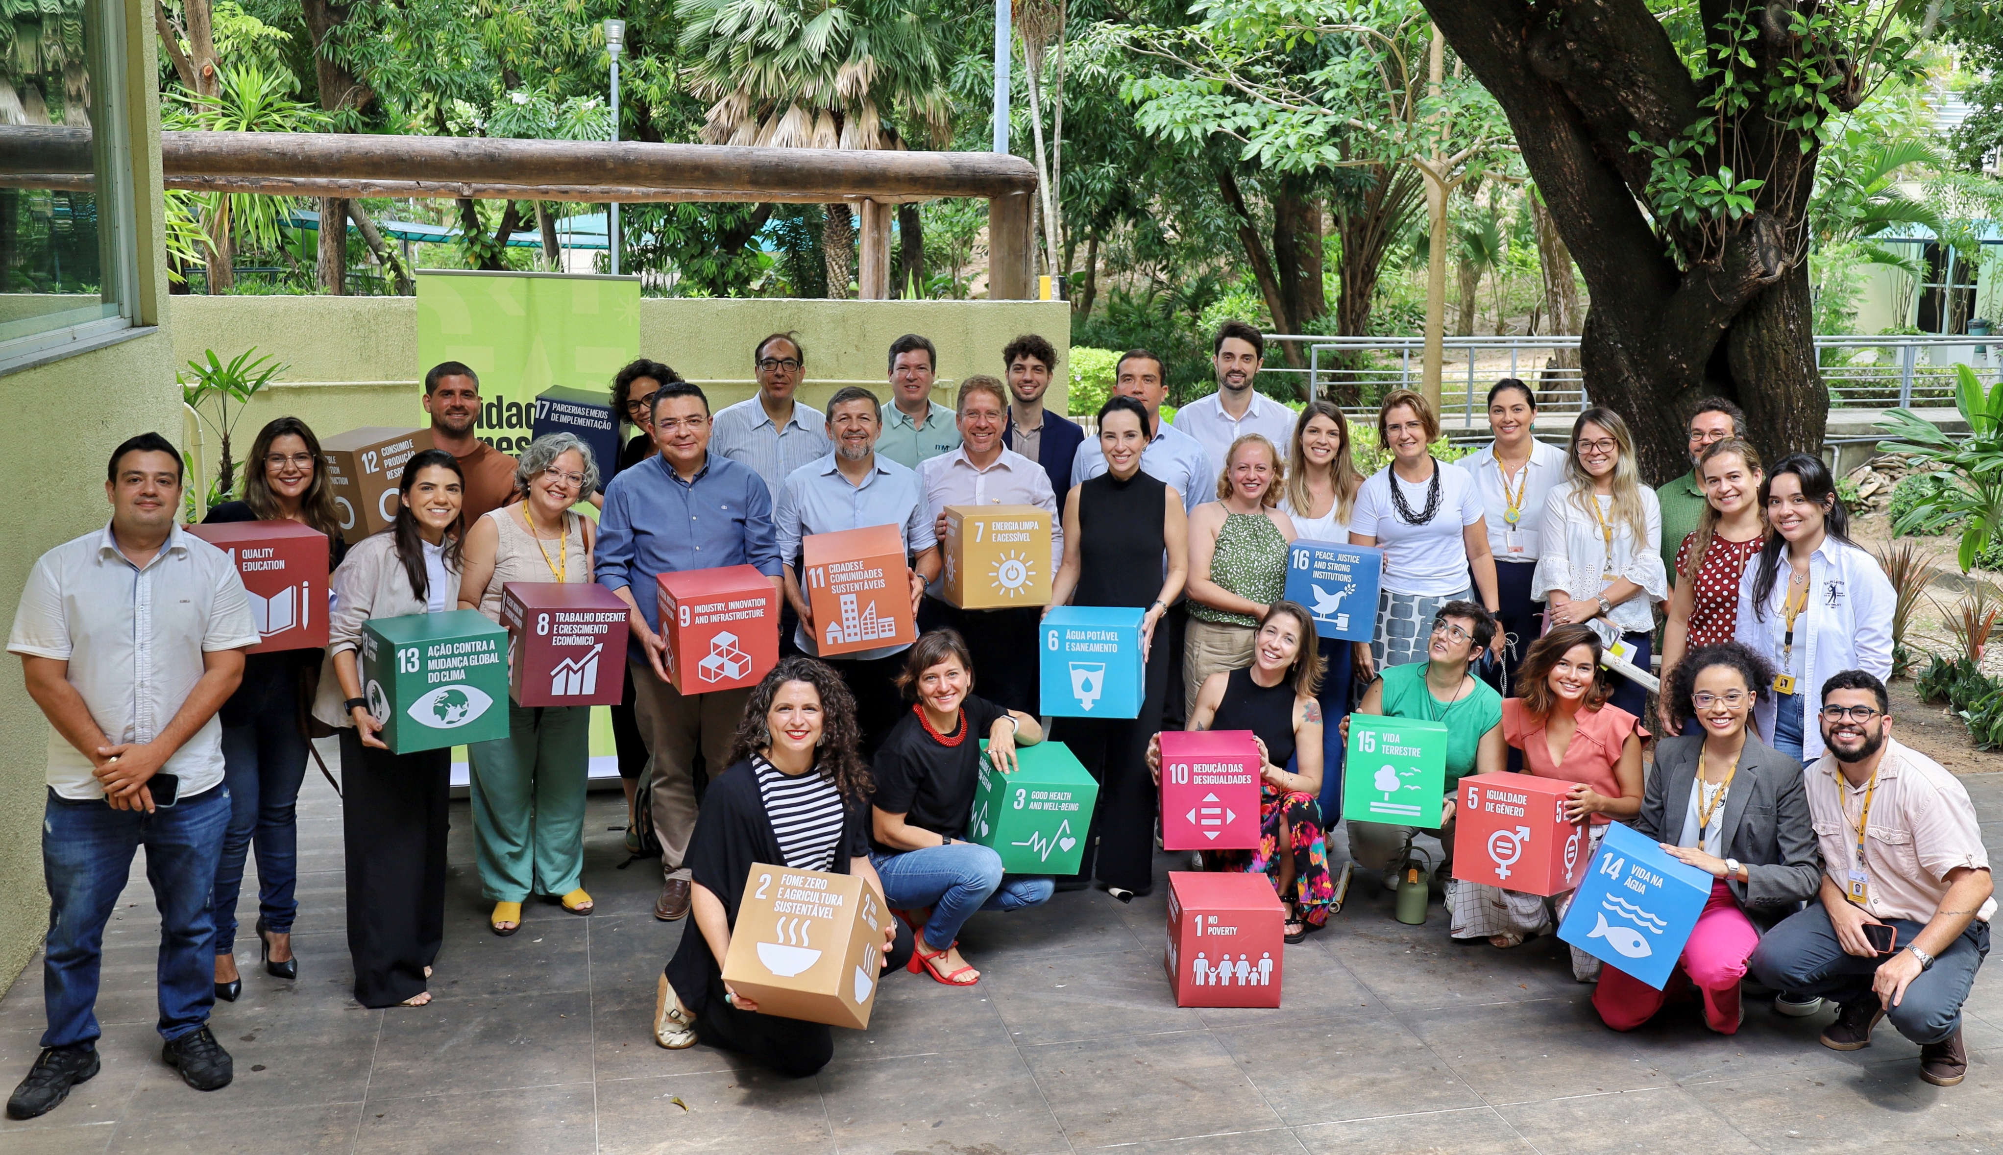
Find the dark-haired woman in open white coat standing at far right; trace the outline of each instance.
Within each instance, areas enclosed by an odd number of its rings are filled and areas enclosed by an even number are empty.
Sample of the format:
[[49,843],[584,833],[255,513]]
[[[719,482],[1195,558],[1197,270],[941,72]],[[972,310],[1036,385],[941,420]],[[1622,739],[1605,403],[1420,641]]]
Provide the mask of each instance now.
[[1897,597],[1877,558],[1849,538],[1851,514],[1821,458],[1781,458],[1759,496],[1771,532],[1739,579],[1737,637],[1775,667],[1755,725],[1807,765],[1823,757],[1823,729],[1805,725],[1803,703],[1841,671],[1891,681]]

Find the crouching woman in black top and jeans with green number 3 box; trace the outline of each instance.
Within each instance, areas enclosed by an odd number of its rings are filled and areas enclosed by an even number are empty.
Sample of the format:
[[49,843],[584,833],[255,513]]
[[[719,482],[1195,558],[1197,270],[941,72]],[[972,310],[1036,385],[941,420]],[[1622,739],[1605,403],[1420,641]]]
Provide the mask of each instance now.
[[[973,659],[957,631],[931,631],[905,653],[897,685],[917,699],[871,761],[869,861],[895,911],[923,919],[917,957],[947,987],[971,987],[981,973],[959,957],[959,927],[973,911],[1020,911],[1050,901],[1046,877],[1002,877],[1002,855],[965,841],[967,815],[987,761],[1016,769],[1016,747],[1044,741],[1044,727],[1022,711],[975,697]],[[917,921],[917,919],[913,919]]]

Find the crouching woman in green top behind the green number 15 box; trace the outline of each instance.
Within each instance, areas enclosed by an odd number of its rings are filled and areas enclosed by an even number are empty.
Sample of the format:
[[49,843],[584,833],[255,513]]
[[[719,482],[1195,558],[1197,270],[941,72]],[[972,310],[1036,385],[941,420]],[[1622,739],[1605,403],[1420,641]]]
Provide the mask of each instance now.
[[[1440,829],[1424,831],[1440,839],[1444,859],[1436,879],[1448,879],[1454,855],[1454,787],[1466,775],[1490,775],[1504,769],[1508,747],[1502,741],[1502,695],[1474,677],[1474,659],[1496,637],[1496,619],[1468,601],[1440,607],[1432,619],[1432,639],[1426,661],[1388,667],[1370,683],[1358,715],[1382,719],[1426,719],[1446,723],[1446,809]],[[1350,721],[1342,719],[1342,741],[1350,739]],[[1386,871],[1384,885],[1396,887],[1392,859],[1404,847],[1412,827],[1390,823],[1350,823],[1350,859],[1358,867]]]

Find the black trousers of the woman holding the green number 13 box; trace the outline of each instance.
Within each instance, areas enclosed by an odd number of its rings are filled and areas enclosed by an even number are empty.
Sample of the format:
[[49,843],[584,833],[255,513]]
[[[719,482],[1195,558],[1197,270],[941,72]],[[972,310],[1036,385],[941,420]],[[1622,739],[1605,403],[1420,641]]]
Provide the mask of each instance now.
[[395,1007],[425,991],[445,945],[445,833],[453,751],[393,755],[341,731],[355,1001]]

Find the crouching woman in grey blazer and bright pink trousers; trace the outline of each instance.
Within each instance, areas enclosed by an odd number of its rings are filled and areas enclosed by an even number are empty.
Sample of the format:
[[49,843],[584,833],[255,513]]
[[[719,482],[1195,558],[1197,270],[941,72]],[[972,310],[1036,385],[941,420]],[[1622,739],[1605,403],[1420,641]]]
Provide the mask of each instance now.
[[1705,1023],[1737,1033],[1739,979],[1759,947],[1753,919],[1783,917],[1817,893],[1823,859],[1801,763],[1747,727],[1771,685],[1765,659],[1743,643],[1723,643],[1689,655],[1662,687],[1677,725],[1695,717],[1703,733],[1656,743],[1634,829],[1717,881],[1662,991],[1612,965],[1600,971],[1592,1009],[1614,1031],[1646,1023],[1689,981],[1703,993]]

